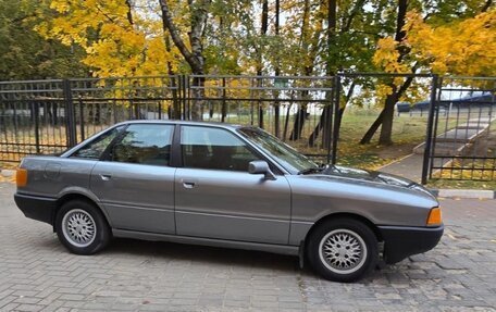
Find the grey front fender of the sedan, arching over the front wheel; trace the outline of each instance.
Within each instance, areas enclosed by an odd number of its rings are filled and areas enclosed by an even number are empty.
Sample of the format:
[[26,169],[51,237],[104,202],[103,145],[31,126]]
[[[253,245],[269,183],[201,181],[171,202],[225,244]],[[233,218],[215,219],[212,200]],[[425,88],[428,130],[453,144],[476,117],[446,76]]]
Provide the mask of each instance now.
[[328,176],[289,176],[292,186],[290,244],[305,239],[322,217],[348,213],[375,226],[425,226],[438,205],[427,194],[402,187]]

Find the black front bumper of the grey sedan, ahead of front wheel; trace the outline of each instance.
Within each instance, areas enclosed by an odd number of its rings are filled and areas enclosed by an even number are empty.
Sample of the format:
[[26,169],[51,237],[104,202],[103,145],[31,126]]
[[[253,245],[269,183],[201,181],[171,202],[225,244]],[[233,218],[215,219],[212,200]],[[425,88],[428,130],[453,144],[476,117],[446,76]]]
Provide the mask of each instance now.
[[380,226],[384,238],[384,261],[393,264],[405,258],[433,249],[443,236],[438,227]]

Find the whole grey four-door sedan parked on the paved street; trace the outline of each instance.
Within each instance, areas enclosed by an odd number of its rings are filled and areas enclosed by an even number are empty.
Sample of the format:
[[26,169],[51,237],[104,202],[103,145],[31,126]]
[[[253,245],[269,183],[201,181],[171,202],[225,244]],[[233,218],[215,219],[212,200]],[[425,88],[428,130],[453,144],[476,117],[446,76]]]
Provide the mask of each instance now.
[[352,282],[434,248],[444,228],[422,186],[319,165],[251,126],[124,122],[24,158],[16,177],[17,207],[77,254],[112,237],[168,240],[298,255]]

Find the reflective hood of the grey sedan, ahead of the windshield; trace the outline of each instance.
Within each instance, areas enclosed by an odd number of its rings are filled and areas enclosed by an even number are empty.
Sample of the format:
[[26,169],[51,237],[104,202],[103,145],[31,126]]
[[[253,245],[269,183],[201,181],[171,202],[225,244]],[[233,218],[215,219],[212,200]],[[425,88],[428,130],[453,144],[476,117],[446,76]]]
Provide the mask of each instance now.
[[368,171],[361,169],[331,165],[322,172],[320,172],[318,175],[326,175],[352,180],[377,183],[382,185],[409,189],[412,191],[419,191],[431,197],[434,197],[431,191],[429,191],[425,187],[416,182],[379,171]]

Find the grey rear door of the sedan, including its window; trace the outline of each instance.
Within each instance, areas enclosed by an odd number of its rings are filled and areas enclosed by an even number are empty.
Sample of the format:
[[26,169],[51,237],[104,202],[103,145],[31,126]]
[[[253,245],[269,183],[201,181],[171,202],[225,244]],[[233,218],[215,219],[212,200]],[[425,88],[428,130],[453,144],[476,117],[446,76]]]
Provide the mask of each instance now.
[[170,166],[174,125],[131,124],[99,161],[90,187],[112,227],[174,234],[174,174]]

